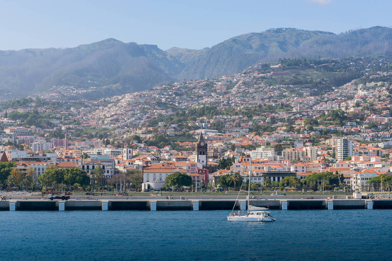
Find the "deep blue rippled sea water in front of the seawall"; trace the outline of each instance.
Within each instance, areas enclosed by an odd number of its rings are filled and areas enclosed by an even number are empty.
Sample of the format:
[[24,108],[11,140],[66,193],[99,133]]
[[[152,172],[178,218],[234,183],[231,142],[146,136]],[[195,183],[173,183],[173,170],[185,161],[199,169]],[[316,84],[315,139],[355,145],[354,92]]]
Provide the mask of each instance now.
[[387,260],[392,210],[0,212],[0,260]]

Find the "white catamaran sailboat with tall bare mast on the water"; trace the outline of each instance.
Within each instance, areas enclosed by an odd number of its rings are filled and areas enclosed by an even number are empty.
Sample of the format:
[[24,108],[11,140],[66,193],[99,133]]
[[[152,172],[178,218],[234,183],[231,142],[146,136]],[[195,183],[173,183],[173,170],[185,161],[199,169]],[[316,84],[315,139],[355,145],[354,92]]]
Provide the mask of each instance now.
[[[250,198],[250,191],[251,191],[251,173],[252,173],[252,158],[251,158],[250,170],[249,170],[247,214],[244,214],[243,211],[242,211],[242,215],[241,215],[240,211],[238,211],[238,213],[234,212],[234,207],[233,207],[233,210],[231,211],[230,215],[227,217],[227,221],[257,221],[257,222],[276,221],[276,219],[271,216],[271,212],[264,211],[264,210],[249,211],[249,208],[250,208],[249,198]],[[241,187],[242,187],[242,185],[241,185]],[[239,188],[239,191],[241,191],[241,188]],[[238,195],[239,195],[239,192],[238,192]],[[237,199],[238,199],[238,196],[237,196]],[[235,203],[234,203],[234,206],[235,206]]]

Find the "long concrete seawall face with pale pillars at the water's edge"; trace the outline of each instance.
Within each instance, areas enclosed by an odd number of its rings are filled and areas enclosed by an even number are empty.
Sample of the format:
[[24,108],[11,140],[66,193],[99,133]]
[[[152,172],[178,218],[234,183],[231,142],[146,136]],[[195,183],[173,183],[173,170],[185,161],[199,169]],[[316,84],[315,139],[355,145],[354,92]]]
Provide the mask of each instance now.
[[[369,199],[252,199],[253,206],[271,210],[349,210],[392,209],[392,200]],[[118,199],[118,200],[2,200],[0,211],[78,211],[78,210],[246,210],[246,199]]]

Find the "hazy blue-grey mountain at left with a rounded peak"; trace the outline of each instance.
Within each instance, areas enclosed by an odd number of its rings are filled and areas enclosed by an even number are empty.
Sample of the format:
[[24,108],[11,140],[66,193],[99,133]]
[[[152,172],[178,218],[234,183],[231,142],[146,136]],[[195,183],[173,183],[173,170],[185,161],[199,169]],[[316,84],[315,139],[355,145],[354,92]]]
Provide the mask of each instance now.
[[116,93],[111,94],[118,94],[174,81],[171,75],[183,67],[156,45],[115,39],[66,49],[0,51],[0,91],[20,96],[54,85],[113,85]]

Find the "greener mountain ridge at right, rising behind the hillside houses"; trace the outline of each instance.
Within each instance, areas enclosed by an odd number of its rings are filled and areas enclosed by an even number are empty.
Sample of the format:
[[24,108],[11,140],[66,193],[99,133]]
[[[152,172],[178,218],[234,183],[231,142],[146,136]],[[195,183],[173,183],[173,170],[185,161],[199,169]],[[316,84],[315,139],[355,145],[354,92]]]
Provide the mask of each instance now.
[[232,75],[259,62],[289,57],[392,56],[392,29],[373,27],[344,34],[292,28],[266,30],[230,38],[211,48],[171,48],[171,56],[184,63],[178,79],[204,79]]

